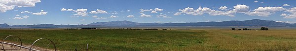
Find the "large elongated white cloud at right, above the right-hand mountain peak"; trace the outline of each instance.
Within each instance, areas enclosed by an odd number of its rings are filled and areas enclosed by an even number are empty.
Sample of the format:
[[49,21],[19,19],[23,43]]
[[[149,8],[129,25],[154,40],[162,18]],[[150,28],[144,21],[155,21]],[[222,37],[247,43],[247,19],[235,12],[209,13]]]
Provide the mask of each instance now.
[[253,12],[246,13],[250,16],[261,16],[268,17],[271,14],[275,14],[275,12],[283,11],[285,8],[283,7],[258,7]]

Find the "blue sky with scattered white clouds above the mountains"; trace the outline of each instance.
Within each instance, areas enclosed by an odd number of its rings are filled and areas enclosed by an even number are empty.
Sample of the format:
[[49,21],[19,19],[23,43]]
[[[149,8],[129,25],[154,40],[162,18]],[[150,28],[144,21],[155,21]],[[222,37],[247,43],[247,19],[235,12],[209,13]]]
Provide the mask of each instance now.
[[263,19],[296,23],[296,0],[0,0],[0,24],[185,23]]

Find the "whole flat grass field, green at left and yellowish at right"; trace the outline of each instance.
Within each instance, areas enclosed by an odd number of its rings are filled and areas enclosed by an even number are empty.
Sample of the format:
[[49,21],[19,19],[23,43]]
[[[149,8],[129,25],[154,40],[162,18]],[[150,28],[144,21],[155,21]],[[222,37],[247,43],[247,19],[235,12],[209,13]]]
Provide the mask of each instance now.
[[[0,38],[13,34],[31,45],[44,37],[53,40],[58,50],[68,51],[84,51],[86,44],[90,51],[296,51],[295,31],[0,30]],[[47,44],[38,41],[36,45]]]

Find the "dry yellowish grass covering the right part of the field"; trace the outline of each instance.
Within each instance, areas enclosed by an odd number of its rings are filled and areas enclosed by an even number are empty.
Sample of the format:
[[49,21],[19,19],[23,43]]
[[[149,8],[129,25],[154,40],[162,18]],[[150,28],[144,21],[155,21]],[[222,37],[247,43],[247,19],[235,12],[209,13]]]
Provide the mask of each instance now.
[[206,30],[207,40],[191,47],[207,51],[296,51],[296,30]]

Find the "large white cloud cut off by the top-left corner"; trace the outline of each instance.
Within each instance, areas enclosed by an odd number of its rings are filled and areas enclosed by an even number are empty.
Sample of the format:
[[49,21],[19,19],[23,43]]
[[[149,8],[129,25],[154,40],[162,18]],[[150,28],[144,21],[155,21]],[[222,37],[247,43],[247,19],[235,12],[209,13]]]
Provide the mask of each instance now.
[[7,10],[12,10],[14,7],[34,7],[35,3],[40,0],[0,0],[0,12],[4,13]]

